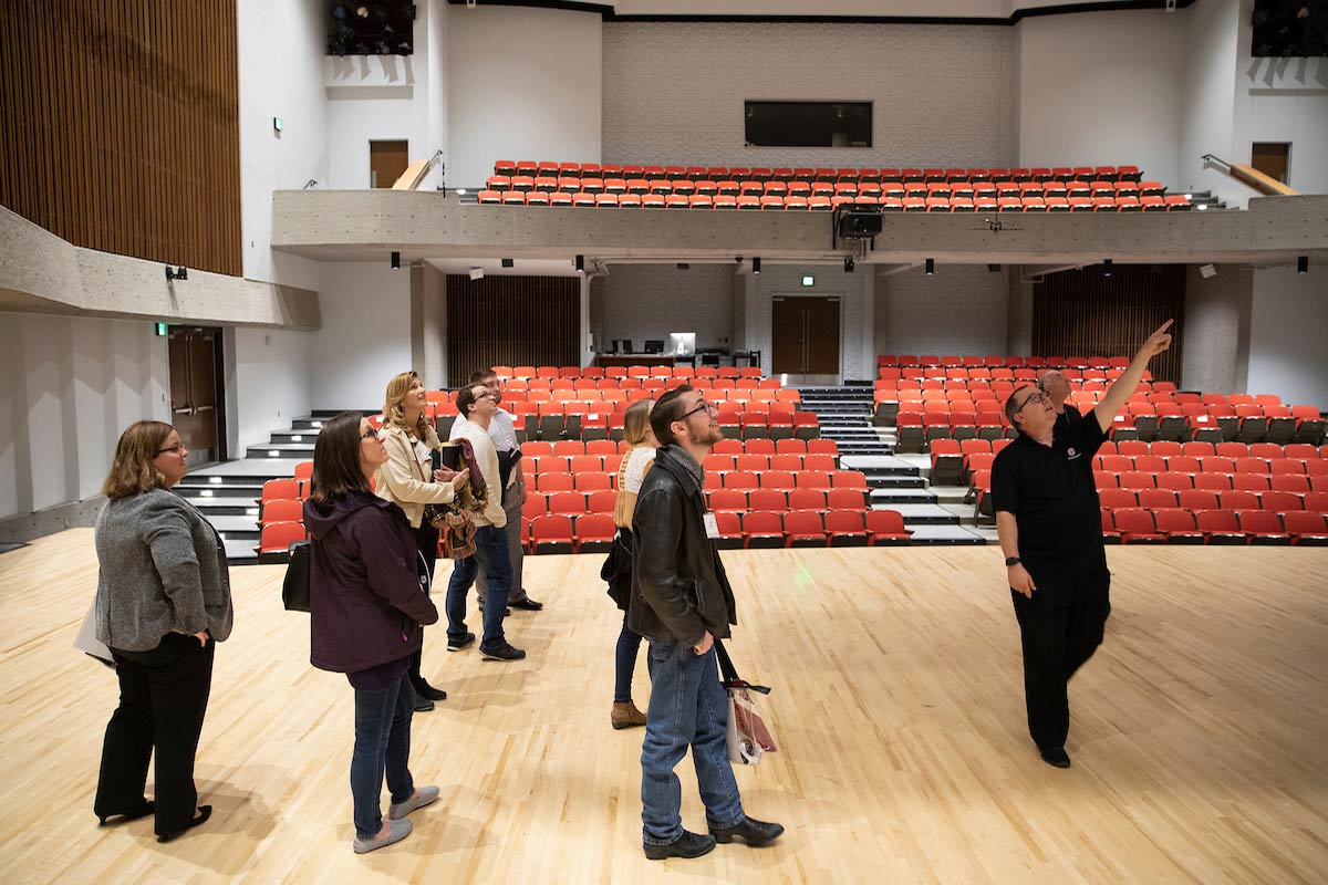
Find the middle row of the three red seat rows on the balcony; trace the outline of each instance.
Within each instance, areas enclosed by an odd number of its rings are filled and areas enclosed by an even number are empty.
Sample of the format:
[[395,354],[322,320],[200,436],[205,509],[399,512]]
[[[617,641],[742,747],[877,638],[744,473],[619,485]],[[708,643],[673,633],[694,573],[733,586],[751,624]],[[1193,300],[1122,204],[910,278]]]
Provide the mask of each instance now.
[[537,176],[529,175],[490,175],[485,182],[481,194],[497,192],[509,194],[519,191],[522,194],[590,194],[591,196],[611,195],[623,198],[625,195],[645,196],[657,194],[660,196],[778,196],[786,199],[797,196],[802,199],[837,196],[862,199],[934,199],[934,198],[1076,198],[1076,196],[1162,196],[1166,191],[1162,182],[1109,182],[1109,180],[1070,180],[1070,182],[900,182],[900,180],[862,180],[862,182],[781,182],[768,180],[738,182],[736,179],[699,179],[689,178],[660,178],[647,180],[644,178],[578,178],[575,175],[563,176]]

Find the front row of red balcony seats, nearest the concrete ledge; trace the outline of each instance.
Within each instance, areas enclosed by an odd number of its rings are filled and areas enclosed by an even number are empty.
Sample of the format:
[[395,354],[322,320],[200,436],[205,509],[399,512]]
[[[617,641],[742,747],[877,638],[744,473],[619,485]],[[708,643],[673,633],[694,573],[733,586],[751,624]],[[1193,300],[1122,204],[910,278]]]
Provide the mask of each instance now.
[[1186,195],[1170,196],[708,196],[695,194],[590,194],[586,191],[479,191],[479,203],[489,206],[558,206],[583,208],[691,208],[691,210],[773,210],[829,212],[841,206],[878,206],[882,212],[1183,212],[1191,207]]

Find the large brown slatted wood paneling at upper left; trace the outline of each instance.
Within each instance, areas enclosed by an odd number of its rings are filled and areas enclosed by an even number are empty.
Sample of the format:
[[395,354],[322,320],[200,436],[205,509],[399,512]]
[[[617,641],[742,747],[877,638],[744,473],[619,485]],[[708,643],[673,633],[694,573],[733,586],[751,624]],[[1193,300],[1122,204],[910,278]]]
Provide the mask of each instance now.
[[0,15],[0,204],[77,245],[240,275],[236,0]]

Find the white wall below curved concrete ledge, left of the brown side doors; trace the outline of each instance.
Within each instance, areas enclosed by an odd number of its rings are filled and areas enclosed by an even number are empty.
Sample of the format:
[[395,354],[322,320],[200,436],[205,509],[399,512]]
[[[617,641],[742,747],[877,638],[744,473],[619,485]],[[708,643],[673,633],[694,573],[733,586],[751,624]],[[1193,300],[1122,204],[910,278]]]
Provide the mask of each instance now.
[[0,517],[97,495],[120,433],[170,419],[153,324],[0,313]]

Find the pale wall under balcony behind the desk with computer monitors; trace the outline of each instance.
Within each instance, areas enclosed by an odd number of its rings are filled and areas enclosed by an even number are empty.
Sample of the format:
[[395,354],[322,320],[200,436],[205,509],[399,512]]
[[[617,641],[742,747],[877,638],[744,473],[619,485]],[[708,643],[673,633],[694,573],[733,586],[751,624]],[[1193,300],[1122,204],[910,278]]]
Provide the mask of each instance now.
[[668,341],[669,332],[695,332],[699,348],[729,346],[733,334],[733,264],[612,264],[603,283],[596,344],[631,338]]

